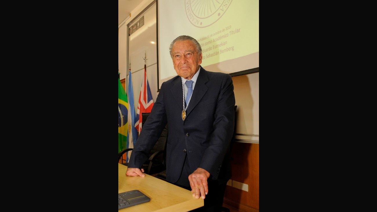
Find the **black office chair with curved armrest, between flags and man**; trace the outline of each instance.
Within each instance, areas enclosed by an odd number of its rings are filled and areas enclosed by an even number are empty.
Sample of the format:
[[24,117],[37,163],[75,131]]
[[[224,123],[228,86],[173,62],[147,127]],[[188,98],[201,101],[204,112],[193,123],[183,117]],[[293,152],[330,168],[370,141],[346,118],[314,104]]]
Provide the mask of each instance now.
[[[144,125],[149,114],[150,113],[141,114],[143,116],[143,122],[141,123],[141,126]],[[141,130],[143,130],[143,128]],[[153,146],[152,150],[150,151],[149,158],[141,167],[144,169],[144,173],[153,175],[163,170],[166,170],[166,143],[167,143],[167,124],[165,128],[162,130],[161,135],[158,138],[158,141],[156,142],[155,146]],[[121,160],[123,162],[123,154],[131,150],[132,148],[121,151],[118,154],[118,161]],[[128,163],[122,163],[122,164],[128,166]]]

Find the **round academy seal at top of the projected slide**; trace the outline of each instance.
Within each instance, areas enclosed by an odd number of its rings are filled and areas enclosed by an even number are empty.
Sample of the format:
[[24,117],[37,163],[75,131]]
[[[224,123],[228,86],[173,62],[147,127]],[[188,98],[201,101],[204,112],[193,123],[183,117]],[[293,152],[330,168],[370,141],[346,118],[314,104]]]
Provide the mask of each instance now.
[[185,0],[185,11],[192,25],[204,28],[224,15],[232,0]]

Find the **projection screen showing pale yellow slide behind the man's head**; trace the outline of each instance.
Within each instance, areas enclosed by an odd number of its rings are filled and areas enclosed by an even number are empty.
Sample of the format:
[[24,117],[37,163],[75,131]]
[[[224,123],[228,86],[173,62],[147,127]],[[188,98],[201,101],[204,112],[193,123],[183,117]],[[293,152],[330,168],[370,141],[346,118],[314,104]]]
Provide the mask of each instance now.
[[259,0],[159,0],[159,83],[177,74],[170,43],[190,35],[202,47],[201,66],[232,74],[259,67]]

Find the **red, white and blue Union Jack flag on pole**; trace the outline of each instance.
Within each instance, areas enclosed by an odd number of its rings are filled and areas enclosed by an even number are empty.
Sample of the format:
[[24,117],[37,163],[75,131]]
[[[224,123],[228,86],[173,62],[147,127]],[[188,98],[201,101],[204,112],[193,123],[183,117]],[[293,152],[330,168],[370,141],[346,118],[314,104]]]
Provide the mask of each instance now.
[[140,90],[140,95],[139,95],[139,103],[138,103],[138,110],[136,112],[136,123],[135,123],[135,128],[137,131],[141,132],[141,123],[143,116],[141,115],[142,113],[150,113],[153,107],[153,98],[152,94],[150,92],[149,88],[149,83],[147,79],[147,65],[144,65],[144,78],[143,81],[141,82],[141,90]]

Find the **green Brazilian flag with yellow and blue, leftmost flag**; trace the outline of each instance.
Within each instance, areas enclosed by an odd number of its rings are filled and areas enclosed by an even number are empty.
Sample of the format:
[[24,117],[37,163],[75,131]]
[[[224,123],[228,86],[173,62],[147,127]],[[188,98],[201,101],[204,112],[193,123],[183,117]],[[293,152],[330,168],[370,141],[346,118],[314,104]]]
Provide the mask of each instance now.
[[118,153],[126,149],[128,100],[126,91],[118,78]]

